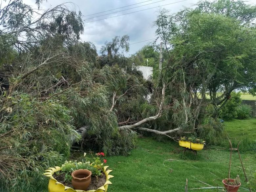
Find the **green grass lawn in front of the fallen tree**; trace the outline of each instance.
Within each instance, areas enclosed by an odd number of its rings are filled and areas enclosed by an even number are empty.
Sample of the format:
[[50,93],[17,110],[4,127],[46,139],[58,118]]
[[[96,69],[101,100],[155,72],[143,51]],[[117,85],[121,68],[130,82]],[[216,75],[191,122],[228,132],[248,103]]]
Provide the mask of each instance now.
[[[225,122],[230,139],[256,139],[256,119],[232,120]],[[246,128],[247,127],[247,128]],[[243,134],[242,134],[243,133]],[[228,142],[225,141],[226,146]],[[256,154],[252,151],[241,154],[248,177],[256,171]],[[174,161],[165,161],[174,159]],[[188,187],[207,187],[200,181],[212,186],[222,186],[222,179],[227,177],[229,151],[227,147],[211,146],[198,152],[198,156],[186,152],[182,157],[182,148],[175,141],[158,142],[152,138],[139,138],[137,148],[128,156],[107,158],[107,164],[113,169],[115,177],[109,192],[163,192],[184,191],[186,178]],[[175,161],[180,160],[180,161]],[[231,177],[239,174],[241,187],[246,188],[243,170],[237,152],[232,156]],[[191,190],[193,191],[193,190]],[[217,191],[217,189],[201,189],[195,191]],[[219,190],[220,191],[220,190]],[[240,188],[239,191],[246,191]]]

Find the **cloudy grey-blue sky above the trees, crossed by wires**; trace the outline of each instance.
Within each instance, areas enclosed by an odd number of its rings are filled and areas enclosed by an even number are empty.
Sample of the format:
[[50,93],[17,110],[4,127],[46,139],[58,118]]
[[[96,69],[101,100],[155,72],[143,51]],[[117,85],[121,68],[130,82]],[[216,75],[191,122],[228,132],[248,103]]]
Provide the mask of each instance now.
[[[146,2],[147,1],[147,2]],[[70,9],[76,9],[76,11],[81,11],[83,15],[89,15],[83,17],[85,20],[84,33],[81,35],[83,41],[91,41],[96,45],[97,50],[104,44],[105,41],[111,41],[111,39],[118,35],[129,35],[130,36],[130,51],[127,53],[133,54],[138,51],[144,45],[150,43],[151,41],[145,41],[148,39],[156,38],[154,27],[154,21],[158,15],[160,8],[165,8],[170,10],[171,13],[180,11],[181,9],[187,7],[191,8],[198,0],[70,0],[74,3],[68,4]],[[256,0],[249,0],[247,3],[255,4]],[[24,0],[24,3],[34,5],[35,0]],[[47,9],[49,7],[56,6],[58,4],[64,3],[62,0],[48,0],[43,3],[43,8]],[[144,2],[144,3],[141,3]],[[138,4],[139,3],[139,4]],[[172,4],[171,4],[172,3]],[[129,6],[132,4],[137,4]],[[170,4],[170,5],[166,5]],[[124,7],[128,6],[128,7]],[[141,6],[141,7],[138,7]],[[158,7],[161,6],[161,7]],[[121,9],[116,9],[124,7]],[[137,8],[135,8],[137,7]],[[153,8],[157,7],[157,8]],[[134,9],[130,9],[134,8]],[[153,8],[153,9],[149,9]],[[108,11],[116,9],[113,11]],[[126,10],[130,9],[130,10]],[[144,10],[149,9],[149,10]],[[126,10],[126,11],[122,11]],[[144,11],[140,11],[144,10]],[[107,11],[107,12],[102,12]],[[119,12],[116,12],[119,11]],[[131,14],[134,11],[139,11]],[[102,13],[98,13],[102,12]],[[116,13],[113,13],[116,12]],[[94,14],[98,13],[98,14]],[[112,13],[112,14],[109,14]],[[93,14],[93,15],[91,15]],[[108,14],[108,15],[105,15]],[[125,14],[122,16],[117,16]],[[101,16],[103,15],[103,16]],[[113,17],[117,16],[117,17]],[[95,17],[95,18],[92,18]],[[108,18],[113,17],[113,18]],[[90,18],[90,19],[89,19]],[[108,18],[108,19],[105,19]],[[102,20],[100,20],[102,19]],[[99,21],[96,21],[99,20]],[[145,41],[137,43],[140,41]]]

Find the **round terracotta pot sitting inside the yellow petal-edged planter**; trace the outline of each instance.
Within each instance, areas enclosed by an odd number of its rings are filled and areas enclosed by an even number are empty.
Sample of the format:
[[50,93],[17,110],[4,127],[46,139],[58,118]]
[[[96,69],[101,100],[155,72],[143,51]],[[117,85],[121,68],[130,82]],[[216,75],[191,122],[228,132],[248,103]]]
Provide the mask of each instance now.
[[78,169],[71,173],[74,189],[86,190],[91,183],[92,172],[88,169]]

